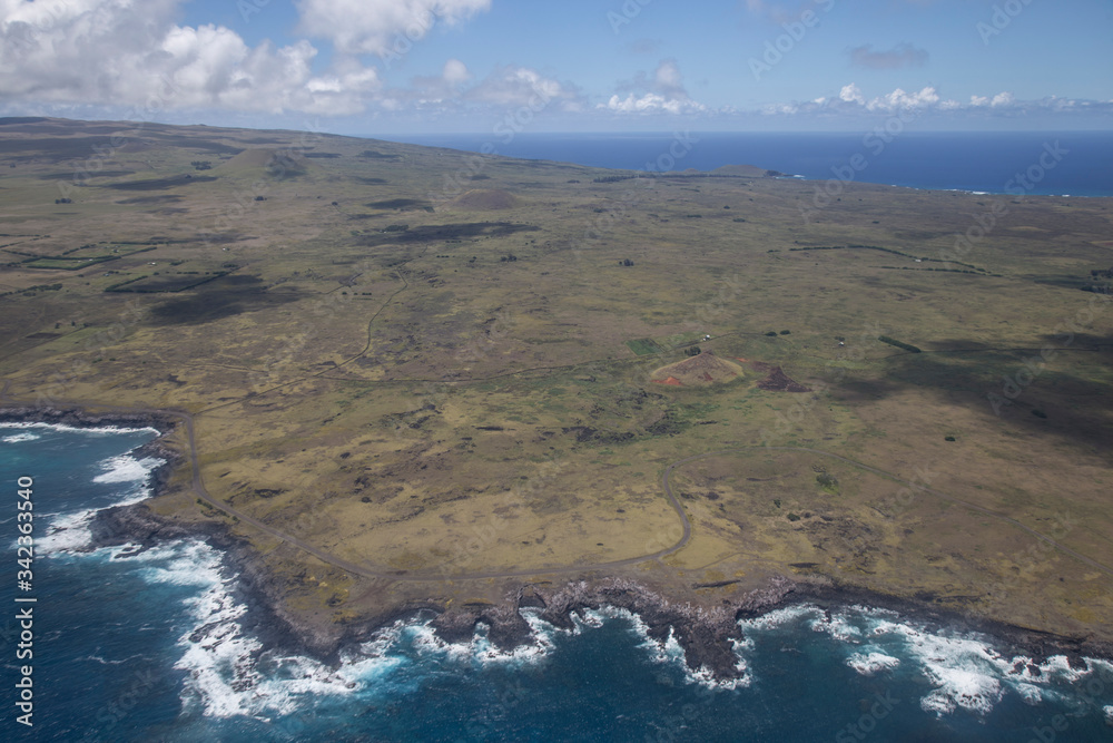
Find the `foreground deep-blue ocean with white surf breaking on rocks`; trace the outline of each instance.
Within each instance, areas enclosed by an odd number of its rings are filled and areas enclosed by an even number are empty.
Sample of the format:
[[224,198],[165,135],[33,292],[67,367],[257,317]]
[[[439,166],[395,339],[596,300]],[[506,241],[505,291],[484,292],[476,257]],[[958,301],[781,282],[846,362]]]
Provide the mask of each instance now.
[[[11,569],[0,740],[33,741],[1099,741],[1113,664],[1038,666],[993,637],[895,613],[814,606],[742,623],[741,682],[687,669],[674,642],[618,610],[574,632],[526,615],[513,653],[480,632],[446,645],[425,618],[348,648],[337,667],[264,647],[219,551],[183,540],[126,557],[78,551],[89,515],[146,495],[151,430],[0,426]],[[32,477],[33,588],[16,586],[19,477]],[[33,727],[17,722],[17,596],[33,596]]]

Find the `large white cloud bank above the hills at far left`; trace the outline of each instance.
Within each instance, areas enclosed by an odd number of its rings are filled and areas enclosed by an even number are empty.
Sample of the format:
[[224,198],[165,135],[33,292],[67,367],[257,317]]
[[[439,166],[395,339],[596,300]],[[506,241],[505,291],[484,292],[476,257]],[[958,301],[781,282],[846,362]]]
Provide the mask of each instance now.
[[223,26],[178,26],[178,0],[0,0],[8,102],[355,114],[377,72],[341,58],[324,75],[308,41],[249,47]]

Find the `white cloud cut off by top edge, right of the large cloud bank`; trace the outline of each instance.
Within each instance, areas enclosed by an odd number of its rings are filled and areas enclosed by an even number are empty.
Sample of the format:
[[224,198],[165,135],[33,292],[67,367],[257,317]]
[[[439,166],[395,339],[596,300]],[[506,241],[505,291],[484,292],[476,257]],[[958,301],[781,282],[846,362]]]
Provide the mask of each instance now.
[[437,26],[453,26],[491,8],[491,0],[298,0],[302,30],[344,53],[385,55]]

